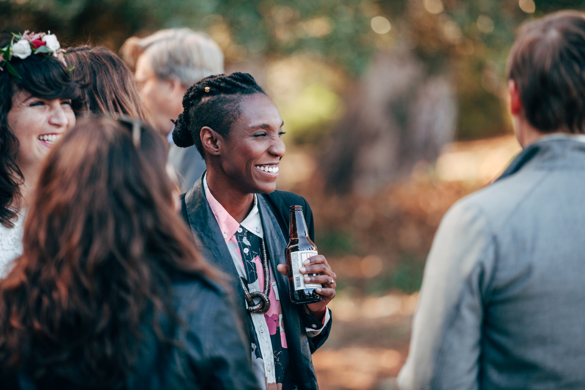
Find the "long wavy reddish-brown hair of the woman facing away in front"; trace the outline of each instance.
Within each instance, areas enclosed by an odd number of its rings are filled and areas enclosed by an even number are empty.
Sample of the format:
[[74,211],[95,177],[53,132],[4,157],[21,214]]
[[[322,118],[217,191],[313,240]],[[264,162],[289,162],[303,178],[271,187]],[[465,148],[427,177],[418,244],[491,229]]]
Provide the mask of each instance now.
[[23,255],[0,282],[2,376],[124,388],[141,330],[164,340],[157,319],[178,322],[173,275],[217,278],[173,207],[165,161],[153,129],[135,147],[131,130],[106,118],[78,120],[53,147]]

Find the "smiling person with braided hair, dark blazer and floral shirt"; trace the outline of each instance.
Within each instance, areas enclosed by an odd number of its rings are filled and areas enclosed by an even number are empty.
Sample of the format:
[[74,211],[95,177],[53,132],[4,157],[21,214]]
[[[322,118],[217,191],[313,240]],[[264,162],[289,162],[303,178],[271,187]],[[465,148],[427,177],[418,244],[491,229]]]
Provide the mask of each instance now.
[[[317,289],[321,301],[300,306],[288,298],[288,208],[302,206],[311,239],[314,222],[302,196],[275,191],[285,151],[280,113],[245,73],[202,79],[188,89],[183,107],[173,140],[180,147],[195,145],[207,165],[183,196],[183,218],[201,240],[207,259],[233,278],[260,385],[269,390],[316,390],[311,353],[331,329],[326,305],[335,297],[336,276],[324,256],[311,257],[301,272],[320,274],[305,279],[323,285]],[[268,256],[261,255],[264,247]],[[262,277],[263,263],[270,280]],[[263,299],[269,304],[254,311],[245,289],[265,291],[266,284],[269,293]]]

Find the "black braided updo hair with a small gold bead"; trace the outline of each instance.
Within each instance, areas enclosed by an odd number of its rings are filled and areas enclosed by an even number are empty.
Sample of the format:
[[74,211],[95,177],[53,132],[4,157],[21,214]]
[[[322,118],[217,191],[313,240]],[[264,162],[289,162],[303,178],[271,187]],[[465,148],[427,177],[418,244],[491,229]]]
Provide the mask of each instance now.
[[173,141],[177,146],[195,145],[205,157],[201,129],[211,127],[227,137],[232,123],[240,116],[239,104],[245,95],[266,93],[247,73],[218,74],[202,78],[187,90],[183,97],[183,113],[173,120]]

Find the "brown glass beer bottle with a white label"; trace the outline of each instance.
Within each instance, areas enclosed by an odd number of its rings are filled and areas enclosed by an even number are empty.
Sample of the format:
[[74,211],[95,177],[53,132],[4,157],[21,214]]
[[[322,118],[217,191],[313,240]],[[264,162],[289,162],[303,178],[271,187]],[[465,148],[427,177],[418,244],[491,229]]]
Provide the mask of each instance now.
[[303,261],[309,257],[316,256],[317,247],[309,239],[307,222],[302,213],[302,206],[290,206],[290,241],[287,249],[284,251],[287,257],[288,266],[288,284],[292,303],[304,305],[321,301],[321,295],[317,294],[316,288],[322,287],[320,284],[307,283],[305,277],[317,276],[318,274],[301,274],[299,269],[304,267]]

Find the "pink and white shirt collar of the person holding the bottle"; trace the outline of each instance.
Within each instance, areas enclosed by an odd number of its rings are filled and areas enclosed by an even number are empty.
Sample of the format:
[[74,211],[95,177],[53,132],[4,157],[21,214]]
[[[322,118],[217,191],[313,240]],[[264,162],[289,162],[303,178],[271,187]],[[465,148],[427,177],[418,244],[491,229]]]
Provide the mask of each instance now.
[[[236,221],[235,218],[229,215],[221,203],[216,201],[214,196],[211,195],[211,191],[209,191],[209,186],[207,185],[207,173],[203,177],[203,188],[205,189],[205,198],[207,198],[209,207],[214,213],[215,220],[218,222],[219,230],[221,230],[223,239],[227,243],[238,231],[240,224],[238,221]],[[258,210],[258,197],[256,194],[254,194],[254,206],[246,218],[242,221],[241,225],[245,227],[248,232],[255,234],[260,238],[264,238],[262,220],[260,219],[260,212]]]

